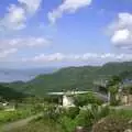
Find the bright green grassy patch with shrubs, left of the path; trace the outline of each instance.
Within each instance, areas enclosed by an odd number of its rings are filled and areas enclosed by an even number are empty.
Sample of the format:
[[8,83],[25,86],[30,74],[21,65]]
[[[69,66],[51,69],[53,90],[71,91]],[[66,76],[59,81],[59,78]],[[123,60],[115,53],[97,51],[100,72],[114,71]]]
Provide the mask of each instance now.
[[29,97],[22,102],[9,101],[8,106],[0,109],[0,125],[42,112],[45,106],[38,100],[38,98]]

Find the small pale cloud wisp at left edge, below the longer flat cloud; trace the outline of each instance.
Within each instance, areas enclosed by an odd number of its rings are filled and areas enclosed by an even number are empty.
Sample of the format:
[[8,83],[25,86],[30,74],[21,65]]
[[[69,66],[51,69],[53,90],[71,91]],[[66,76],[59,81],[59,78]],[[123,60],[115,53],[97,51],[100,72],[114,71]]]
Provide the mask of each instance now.
[[10,48],[10,50],[7,50],[7,51],[1,51],[0,52],[0,58],[6,58],[8,56],[10,56],[11,54],[14,54],[16,53],[16,48]]

